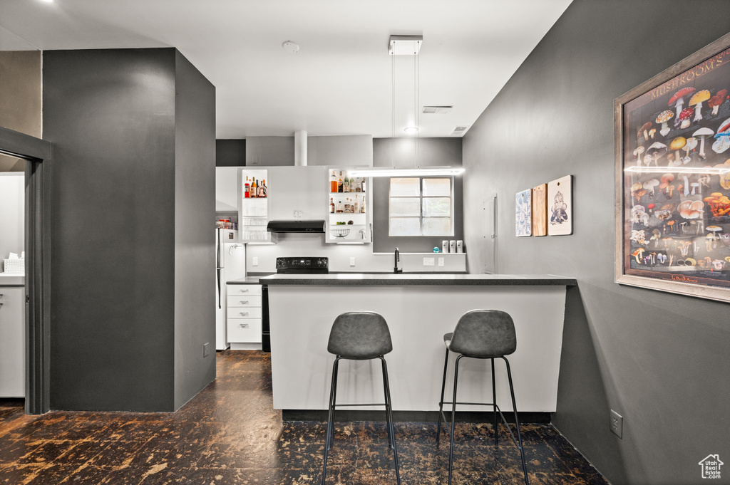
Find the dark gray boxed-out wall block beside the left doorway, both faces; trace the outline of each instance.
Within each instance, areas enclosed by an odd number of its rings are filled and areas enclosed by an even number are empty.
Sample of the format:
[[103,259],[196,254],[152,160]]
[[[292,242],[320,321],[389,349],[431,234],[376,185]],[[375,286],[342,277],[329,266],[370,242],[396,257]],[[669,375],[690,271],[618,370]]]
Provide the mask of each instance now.
[[52,409],[174,411],[215,377],[211,90],[172,48],[44,53]]

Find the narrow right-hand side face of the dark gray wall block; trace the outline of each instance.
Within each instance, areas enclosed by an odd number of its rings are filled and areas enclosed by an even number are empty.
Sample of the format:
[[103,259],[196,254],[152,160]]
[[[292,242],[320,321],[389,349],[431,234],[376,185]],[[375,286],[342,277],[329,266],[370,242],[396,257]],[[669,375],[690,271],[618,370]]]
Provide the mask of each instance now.
[[[215,379],[215,87],[175,50],[175,392]],[[202,344],[209,344],[204,357]]]

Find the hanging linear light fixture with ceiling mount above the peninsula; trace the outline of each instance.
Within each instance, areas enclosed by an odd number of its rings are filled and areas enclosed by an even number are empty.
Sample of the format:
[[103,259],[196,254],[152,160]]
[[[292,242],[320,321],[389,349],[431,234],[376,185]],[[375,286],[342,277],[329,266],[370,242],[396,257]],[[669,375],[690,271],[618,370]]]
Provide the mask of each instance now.
[[[455,176],[464,173],[461,167],[420,167],[418,163],[418,129],[420,110],[418,102],[420,96],[420,70],[418,55],[423,44],[423,36],[396,36],[391,35],[388,44],[388,54],[391,55],[391,167],[360,168],[352,172],[353,176]],[[404,132],[413,136],[413,168],[396,168],[396,55],[410,55],[413,58],[413,123],[407,126]]]

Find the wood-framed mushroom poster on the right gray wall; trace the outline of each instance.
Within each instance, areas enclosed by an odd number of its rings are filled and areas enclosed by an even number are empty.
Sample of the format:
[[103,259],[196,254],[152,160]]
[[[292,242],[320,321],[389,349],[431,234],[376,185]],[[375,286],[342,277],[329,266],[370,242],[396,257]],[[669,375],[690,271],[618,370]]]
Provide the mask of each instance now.
[[615,140],[615,281],[730,301],[730,34],[616,99]]

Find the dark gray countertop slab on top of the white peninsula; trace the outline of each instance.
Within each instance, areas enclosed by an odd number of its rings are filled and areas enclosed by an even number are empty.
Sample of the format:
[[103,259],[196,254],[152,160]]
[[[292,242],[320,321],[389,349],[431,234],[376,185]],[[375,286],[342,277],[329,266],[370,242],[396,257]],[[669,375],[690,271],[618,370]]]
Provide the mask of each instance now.
[[463,273],[329,273],[274,274],[260,279],[261,283],[322,284],[322,285],[562,285],[575,286],[575,278],[553,274],[463,274]]

